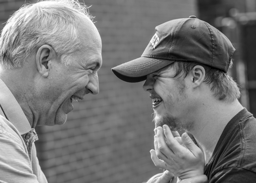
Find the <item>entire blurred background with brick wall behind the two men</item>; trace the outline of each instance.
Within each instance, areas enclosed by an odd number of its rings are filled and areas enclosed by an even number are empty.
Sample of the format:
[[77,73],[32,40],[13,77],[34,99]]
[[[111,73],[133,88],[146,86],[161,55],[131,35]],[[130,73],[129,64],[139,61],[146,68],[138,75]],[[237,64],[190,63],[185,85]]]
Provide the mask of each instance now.
[[[30,1],[35,2],[35,1]],[[174,18],[197,18],[234,44],[230,75],[240,102],[256,115],[256,0],[84,0],[102,38],[100,93],[86,95],[61,126],[37,127],[41,168],[49,183],[142,183],[162,172],[154,148],[152,101],[141,83],[117,79],[111,68],[140,57],[154,28]],[[24,0],[0,0],[0,30]]]

